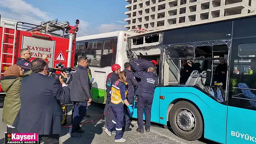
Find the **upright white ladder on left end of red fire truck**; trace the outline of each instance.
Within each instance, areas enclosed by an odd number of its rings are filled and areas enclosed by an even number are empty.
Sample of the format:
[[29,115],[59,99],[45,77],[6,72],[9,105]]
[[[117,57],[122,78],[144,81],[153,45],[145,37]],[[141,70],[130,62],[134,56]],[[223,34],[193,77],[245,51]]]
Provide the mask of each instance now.
[[[7,32],[5,32],[6,30],[6,26],[14,26],[14,34],[9,34]],[[4,38],[7,36],[7,35],[12,35],[14,36],[13,38],[13,43],[4,43]],[[16,25],[13,25],[13,24],[10,24],[10,23],[6,23],[3,21],[3,34],[2,34],[2,43],[1,43],[1,57],[0,57],[0,77],[1,77],[1,70],[2,70],[2,65],[13,65],[14,64],[14,49],[15,49],[15,40],[16,40]],[[12,53],[4,53],[4,47],[6,45],[12,45]],[[12,63],[4,63],[3,62],[3,57],[4,55],[11,55],[12,56]]]

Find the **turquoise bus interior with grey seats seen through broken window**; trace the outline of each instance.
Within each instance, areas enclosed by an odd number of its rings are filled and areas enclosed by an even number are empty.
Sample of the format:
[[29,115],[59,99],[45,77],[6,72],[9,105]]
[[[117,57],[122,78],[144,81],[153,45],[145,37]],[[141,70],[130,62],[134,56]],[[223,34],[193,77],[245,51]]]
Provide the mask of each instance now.
[[[166,60],[164,64],[164,85],[191,85],[215,97],[219,102],[226,100],[226,79],[223,86],[214,86],[215,69],[221,65],[219,60],[227,60],[229,47],[227,44],[219,45],[171,45],[166,47]],[[183,76],[182,61],[192,67],[185,83],[180,82]],[[184,65],[184,63],[183,63]],[[168,73],[168,74],[167,74]],[[226,71],[227,74],[227,71]],[[168,77],[168,79],[166,79]],[[167,81],[168,80],[168,81]]]

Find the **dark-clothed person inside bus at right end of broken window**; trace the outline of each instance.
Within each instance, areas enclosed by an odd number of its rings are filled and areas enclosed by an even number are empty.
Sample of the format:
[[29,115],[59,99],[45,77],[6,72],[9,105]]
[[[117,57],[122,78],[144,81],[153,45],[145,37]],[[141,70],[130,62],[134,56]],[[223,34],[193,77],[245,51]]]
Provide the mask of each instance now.
[[225,60],[219,60],[221,64],[216,66],[214,71],[214,82],[222,83],[222,88],[226,89],[226,80],[227,80],[227,64]]

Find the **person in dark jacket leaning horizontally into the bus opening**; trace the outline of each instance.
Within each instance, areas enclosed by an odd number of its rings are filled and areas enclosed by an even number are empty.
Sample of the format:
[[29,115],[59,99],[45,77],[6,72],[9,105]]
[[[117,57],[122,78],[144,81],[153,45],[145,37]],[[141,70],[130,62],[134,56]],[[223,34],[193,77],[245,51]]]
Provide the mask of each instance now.
[[[133,60],[131,62],[131,69],[133,72],[135,71],[148,71],[149,67],[154,67],[157,65],[157,61],[152,60],[152,61],[148,61],[145,59],[137,59],[137,60]],[[156,71],[156,69],[155,69]],[[157,73],[155,73],[155,75],[157,76]]]

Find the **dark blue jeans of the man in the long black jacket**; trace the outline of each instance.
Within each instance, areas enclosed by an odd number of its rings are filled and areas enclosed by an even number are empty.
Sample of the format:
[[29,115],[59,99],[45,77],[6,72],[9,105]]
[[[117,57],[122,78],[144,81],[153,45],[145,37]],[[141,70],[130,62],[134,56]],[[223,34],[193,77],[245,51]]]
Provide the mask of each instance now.
[[87,110],[87,102],[77,102],[73,101],[73,122],[71,124],[71,127],[69,128],[70,133],[78,132],[80,130],[80,122],[84,118],[84,115],[86,114]]

